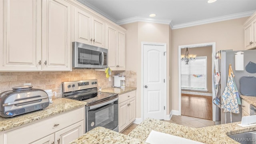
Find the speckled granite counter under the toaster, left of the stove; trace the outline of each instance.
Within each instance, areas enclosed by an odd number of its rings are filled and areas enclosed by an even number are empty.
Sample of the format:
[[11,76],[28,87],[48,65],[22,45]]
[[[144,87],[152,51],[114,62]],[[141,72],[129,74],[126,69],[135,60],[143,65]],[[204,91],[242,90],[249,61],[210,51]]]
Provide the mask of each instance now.
[[12,118],[3,118],[0,116],[0,132],[85,105],[86,102],[67,98],[53,99],[53,103],[43,110],[29,112]]

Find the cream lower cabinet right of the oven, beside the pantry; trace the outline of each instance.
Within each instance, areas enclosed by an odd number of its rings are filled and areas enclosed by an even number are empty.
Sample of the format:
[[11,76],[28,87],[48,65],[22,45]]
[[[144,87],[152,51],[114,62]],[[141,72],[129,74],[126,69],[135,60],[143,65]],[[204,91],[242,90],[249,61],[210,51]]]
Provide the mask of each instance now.
[[118,96],[118,126],[122,132],[136,118],[136,91]]

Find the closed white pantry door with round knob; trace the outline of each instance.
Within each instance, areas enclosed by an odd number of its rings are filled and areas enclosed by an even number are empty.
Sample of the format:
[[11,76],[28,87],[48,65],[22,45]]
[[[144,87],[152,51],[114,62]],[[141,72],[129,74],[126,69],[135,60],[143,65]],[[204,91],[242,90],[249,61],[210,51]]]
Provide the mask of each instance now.
[[166,45],[143,45],[144,119],[164,119],[166,97]]

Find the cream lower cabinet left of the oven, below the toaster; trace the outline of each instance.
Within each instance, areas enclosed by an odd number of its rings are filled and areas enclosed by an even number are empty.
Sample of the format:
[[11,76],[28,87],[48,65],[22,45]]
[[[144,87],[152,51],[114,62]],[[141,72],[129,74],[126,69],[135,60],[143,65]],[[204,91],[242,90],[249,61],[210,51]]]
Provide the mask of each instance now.
[[84,134],[84,106],[0,132],[0,144],[68,144]]

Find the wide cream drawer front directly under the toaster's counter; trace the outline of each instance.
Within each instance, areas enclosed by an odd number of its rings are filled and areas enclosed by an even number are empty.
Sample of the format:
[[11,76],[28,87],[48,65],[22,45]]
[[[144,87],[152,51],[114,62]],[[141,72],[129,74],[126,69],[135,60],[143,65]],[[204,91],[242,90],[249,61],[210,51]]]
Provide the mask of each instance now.
[[4,133],[4,142],[6,144],[21,144],[21,140],[24,144],[34,142],[35,140],[84,120],[84,110],[84,107],[79,108],[77,110],[72,110],[70,112],[6,132]]

